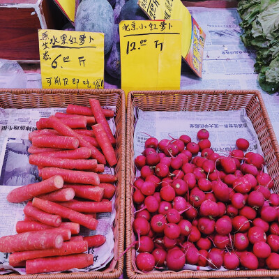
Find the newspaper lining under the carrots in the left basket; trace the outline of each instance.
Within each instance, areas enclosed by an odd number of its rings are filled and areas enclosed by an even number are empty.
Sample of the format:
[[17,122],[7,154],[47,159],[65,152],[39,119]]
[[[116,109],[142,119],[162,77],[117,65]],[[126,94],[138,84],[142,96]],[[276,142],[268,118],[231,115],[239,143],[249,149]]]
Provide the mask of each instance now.
[[[116,110],[116,107],[105,107]],[[28,148],[31,142],[28,135],[36,130],[36,121],[41,117],[49,117],[56,112],[66,112],[61,108],[41,109],[1,109],[0,108],[0,237],[17,234],[17,221],[24,220],[23,209],[27,202],[12,204],[6,197],[10,190],[29,183],[41,181],[38,168],[29,164]],[[112,133],[115,134],[114,119],[108,121]],[[105,173],[114,174],[114,168],[105,167]],[[114,257],[113,223],[116,215],[115,197],[112,198],[112,213],[97,213],[98,227],[95,231],[81,226],[83,236],[103,234],[106,241],[103,246],[89,248],[87,251],[94,255],[94,263],[85,269],[71,269],[70,271],[96,271],[103,269]],[[0,252],[0,274],[10,271],[26,274],[24,268],[13,268],[8,264],[8,253]]]

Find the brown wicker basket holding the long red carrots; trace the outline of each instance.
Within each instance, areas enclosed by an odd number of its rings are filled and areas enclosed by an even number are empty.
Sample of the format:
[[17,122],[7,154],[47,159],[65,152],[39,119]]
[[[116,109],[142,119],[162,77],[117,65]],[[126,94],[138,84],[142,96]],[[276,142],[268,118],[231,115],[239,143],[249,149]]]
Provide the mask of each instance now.
[[[100,105],[116,106],[116,157],[118,163],[115,173],[118,177],[116,187],[116,218],[114,220],[114,258],[123,252],[124,220],[125,220],[125,149],[126,149],[126,115],[125,94],[120,89],[99,90],[48,90],[48,89],[0,89],[1,108],[34,108],[34,107],[67,107],[69,104],[89,105],[89,98],[100,100]],[[112,260],[110,266],[103,271],[34,274],[34,275],[3,275],[5,279],[89,279],[89,278],[119,278],[123,272],[123,257]]]

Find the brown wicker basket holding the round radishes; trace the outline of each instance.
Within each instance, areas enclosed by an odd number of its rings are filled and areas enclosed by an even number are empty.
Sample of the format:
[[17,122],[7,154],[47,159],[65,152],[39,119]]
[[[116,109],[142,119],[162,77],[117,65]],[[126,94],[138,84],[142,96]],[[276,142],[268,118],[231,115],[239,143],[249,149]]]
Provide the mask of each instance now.
[[[273,132],[264,101],[259,91],[133,91],[128,94],[127,145],[126,145],[126,246],[135,240],[133,234],[133,183],[134,164],[134,108],[144,111],[225,111],[246,109],[264,152],[266,167],[274,178],[273,190],[279,189],[279,146]],[[135,249],[127,252],[128,278],[248,278],[279,277],[279,271],[151,271],[143,273],[135,266]]]

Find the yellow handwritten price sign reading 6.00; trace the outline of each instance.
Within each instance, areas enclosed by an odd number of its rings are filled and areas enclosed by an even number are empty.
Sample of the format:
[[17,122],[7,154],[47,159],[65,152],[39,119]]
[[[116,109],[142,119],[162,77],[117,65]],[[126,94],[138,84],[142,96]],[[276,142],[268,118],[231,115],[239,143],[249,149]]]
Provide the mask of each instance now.
[[103,89],[104,34],[40,29],[43,88]]

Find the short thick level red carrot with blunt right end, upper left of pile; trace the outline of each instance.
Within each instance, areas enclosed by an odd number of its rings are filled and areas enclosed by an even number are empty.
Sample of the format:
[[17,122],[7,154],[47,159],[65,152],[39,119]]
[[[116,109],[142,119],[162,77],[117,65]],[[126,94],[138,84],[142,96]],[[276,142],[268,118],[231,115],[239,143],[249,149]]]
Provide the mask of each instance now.
[[80,142],[77,137],[63,137],[59,135],[38,135],[32,139],[33,146],[61,149],[76,149]]

